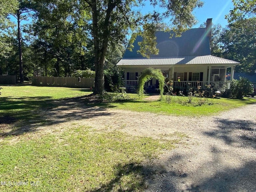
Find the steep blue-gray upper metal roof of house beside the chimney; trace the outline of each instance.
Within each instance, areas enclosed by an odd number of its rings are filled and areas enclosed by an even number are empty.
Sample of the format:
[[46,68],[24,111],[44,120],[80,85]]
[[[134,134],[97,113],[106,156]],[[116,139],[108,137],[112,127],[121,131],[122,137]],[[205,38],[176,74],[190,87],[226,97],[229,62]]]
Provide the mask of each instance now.
[[[170,34],[173,34],[170,38]],[[133,43],[134,48],[132,52],[126,50],[124,58],[143,58],[138,54],[140,46],[138,42],[142,41],[141,36],[137,36]],[[156,48],[159,49],[158,55],[151,55],[150,58],[163,57],[179,57],[179,56],[203,56],[210,55],[210,41],[206,36],[206,28],[190,29],[182,33],[181,37],[175,37],[173,31],[171,32],[156,32]]]

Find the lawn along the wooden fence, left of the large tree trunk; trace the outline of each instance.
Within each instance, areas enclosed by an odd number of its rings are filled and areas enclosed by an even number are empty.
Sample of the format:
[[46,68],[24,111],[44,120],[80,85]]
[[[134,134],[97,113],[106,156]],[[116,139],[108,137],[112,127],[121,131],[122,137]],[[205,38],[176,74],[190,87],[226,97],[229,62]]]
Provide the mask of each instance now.
[[[0,114],[19,120],[33,120],[38,108],[53,108],[66,98],[90,94],[89,89],[37,86],[2,86]],[[0,116],[1,118],[1,116]]]

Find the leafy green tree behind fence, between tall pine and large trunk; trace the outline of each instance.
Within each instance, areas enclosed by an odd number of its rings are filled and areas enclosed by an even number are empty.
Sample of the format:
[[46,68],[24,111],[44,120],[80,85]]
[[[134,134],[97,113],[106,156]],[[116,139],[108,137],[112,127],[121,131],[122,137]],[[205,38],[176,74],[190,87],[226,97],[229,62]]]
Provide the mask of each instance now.
[[[54,76],[72,76],[89,65],[92,50],[88,40],[88,13],[77,0],[35,0],[38,20],[32,31],[41,56],[54,60]],[[88,48],[89,47],[89,48]],[[45,63],[45,62],[44,62]],[[48,64],[48,63],[45,63]],[[91,66],[91,65],[90,65]],[[45,66],[45,69],[48,68]],[[90,67],[89,67],[90,68]],[[47,74],[47,70],[45,70]]]

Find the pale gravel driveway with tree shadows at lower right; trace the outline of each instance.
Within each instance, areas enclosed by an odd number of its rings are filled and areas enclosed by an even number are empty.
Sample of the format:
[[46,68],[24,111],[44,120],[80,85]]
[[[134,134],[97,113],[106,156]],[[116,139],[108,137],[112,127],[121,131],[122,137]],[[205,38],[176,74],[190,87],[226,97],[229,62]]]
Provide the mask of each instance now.
[[154,164],[146,192],[256,192],[256,105],[205,118],[170,118],[187,145]]

